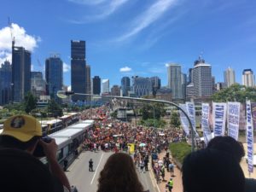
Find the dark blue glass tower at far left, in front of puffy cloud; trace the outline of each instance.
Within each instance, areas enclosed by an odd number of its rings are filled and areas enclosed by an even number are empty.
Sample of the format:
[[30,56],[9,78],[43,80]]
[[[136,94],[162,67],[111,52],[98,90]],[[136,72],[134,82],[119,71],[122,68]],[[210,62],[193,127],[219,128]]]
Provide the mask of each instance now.
[[31,52],[23,47],[12,49],[12,97],[13,102],[24,100],[31,90]]

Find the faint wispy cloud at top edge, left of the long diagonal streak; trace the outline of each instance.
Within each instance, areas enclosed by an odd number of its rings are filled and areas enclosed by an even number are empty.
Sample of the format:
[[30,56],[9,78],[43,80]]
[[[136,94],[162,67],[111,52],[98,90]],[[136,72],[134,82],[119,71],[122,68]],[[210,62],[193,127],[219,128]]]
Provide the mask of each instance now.
[[[119,7],[121,5],[123,5],[124,3],[126,3],[128,0],[112,0],[112,1],[108,1],[108,4],[104,4],[100,7],[101,9],[101,14],[98,15],[92,15],[92,16],[86,16],[84,17],[84,19],[82,20],[69,20],[70,22],[74,23],[74,24],[84,24],[84,23],[88,23],[88,22],[92,22],[95,20],[102,20],[105,19],[106,17],[108,17],[109,15],[112,15],[113,12],[115,12],[117,9],[119,9]],[[83,3],[83,4],[88,4],[85,3],[85,0],[71,0],[71,2],[76,2],[76,3]],[[96,1],[97,3],[90,3],[90,5],[95,5],[98,6],[98,4],[100,3],[104,3],[107,1],[101,1],[98,0]],[[109,3],[110,2],[110,3]]]

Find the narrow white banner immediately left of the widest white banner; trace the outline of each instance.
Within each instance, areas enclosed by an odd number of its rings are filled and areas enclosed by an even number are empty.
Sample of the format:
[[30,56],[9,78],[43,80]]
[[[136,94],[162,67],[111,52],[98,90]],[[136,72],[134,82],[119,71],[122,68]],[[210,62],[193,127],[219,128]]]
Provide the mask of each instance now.
[[209,126],[209,103],[201,103],[201,129],[204,135],[204,142],[207,143],[212,139],[212,132]]

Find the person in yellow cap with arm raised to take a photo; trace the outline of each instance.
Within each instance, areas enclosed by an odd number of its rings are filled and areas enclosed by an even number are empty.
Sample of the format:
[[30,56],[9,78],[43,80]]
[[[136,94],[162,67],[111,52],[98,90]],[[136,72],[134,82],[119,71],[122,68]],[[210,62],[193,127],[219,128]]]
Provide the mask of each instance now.
[[[40,146],[48,160],[50,175],[55,180],[55,191],[70,191],[67,176],[57,161],[58,146],[55,139],[50,139],[49,143],[46,143],[41,137],[42,127],[37,119],[25,114],[15,115],[4,121],[3,132],[0,135],[0,150],[4,148],[20,149],[36,159],[33,154]],[[43,163],[42,165],[44,166]]]

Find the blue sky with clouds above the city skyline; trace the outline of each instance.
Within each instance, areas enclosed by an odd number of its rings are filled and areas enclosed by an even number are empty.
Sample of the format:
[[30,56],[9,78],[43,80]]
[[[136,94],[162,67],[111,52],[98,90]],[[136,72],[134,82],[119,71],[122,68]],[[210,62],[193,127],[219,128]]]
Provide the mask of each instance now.
[[86,41],[91,77],[111,85],[132,75],[166,85],[166,63],[188,73],[201,53],[217,82],[227,67],[238,83],[243,69],[256,73],[253,0],[9,0],[1,7],[0,62],[9,58],[10,17],[17,45],[32,50],[32,69],[43,71],[51,53],[61,54],[66,85],[71,39]]

